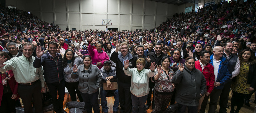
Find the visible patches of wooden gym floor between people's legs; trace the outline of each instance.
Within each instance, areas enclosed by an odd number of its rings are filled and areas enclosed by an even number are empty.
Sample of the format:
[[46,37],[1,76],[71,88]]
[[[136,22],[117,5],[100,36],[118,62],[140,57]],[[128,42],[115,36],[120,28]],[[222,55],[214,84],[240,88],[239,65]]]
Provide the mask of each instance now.
[[[228,106],[230,107],[230,100],[231,100],[231,97],[232,95],[229,95],[229,101],[228,101]],[[252,95],[251,99],[250,99],[250,105],[251,107],[248,107],[246,105],[243,105],[243,107],[241,108],[240,112],[239,113],[254,113],[254,108],[256,106],[255,103],[253,103],[254,101],[254,94]],[[153,94],[151,96],[151,100],[153,98]],[[113,113],[113,110],[112,110],[112,106],[114,105],[114,97],[107,97],[107,101],[108,101],[108,107],[109,107],[109,113]],[[64,99],[64,103],[63,103],[63,109],[65,109],[66,107],[66,103],[71,101],[71,97],[69,96],[69,98],[67,98],[67,95],[65,94],[65,99]],[[208,101],[208,106],[206,107],[206,113],[209,109],[209,101]],[[236,109],[236,107],[235,107]],[[67,111],[69,113],[69,111],[67,109],[65,109],[65,111]],[[119,110],[120,111],[120,110]],[[152,111],[152,106],[150,106],[150,108],[147,110],[147,113],[150,113]],[[217,110],[215,111],[215,113],[219,113],[219,105],[217,106]],[[227,113],[230,112],[230,109],[227,109]],[[101,112],[102,113],[102,112]]]

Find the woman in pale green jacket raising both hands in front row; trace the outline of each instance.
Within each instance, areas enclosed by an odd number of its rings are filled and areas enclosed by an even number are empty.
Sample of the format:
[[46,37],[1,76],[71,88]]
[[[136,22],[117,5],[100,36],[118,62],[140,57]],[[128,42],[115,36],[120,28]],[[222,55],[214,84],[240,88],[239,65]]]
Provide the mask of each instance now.
[[129,69],[129,60],[124,62],[124,73],[131,76],[131,97],[132,113],[144,113],[146,110],[145,103],[149,93],[149,77],[155,73],[155,62],[151,63],[150,69],[145,69],[146,61],[139,58],[136,61],[137,68]]

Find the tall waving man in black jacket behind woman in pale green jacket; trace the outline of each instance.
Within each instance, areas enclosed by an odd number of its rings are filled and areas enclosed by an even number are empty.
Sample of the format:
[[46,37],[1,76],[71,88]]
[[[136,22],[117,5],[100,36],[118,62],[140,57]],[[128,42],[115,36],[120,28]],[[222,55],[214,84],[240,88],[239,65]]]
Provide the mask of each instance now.
[[[116,41],[116,51],[111,55],[110,59],[116,63],[116,75],[117,75],[117,85],[118,85],[118,96],[120,102],[120,113],[130,113],[132,111],[132,98],[131,98],[131,77],[127,76],[124,73],[124,61],[128,59],[129,68],[136,67],[137,58],[130,54],[129,46],[127,43],[123,42],[120,45],[120,42]],[[121,51],[118,54],[118,51]]]

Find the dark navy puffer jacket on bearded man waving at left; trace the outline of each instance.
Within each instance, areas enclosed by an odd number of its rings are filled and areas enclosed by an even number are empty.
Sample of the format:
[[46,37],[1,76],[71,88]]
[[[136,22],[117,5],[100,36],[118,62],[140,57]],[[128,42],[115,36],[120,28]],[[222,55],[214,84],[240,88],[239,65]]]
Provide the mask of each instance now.
[[58,57],[57,62],[52,59],[47,51],[40,58],[36,57],[33,62],[35,68],[43,66],[46,83],[56,83],[64,79],[62,56],[57,53],[56,57]]

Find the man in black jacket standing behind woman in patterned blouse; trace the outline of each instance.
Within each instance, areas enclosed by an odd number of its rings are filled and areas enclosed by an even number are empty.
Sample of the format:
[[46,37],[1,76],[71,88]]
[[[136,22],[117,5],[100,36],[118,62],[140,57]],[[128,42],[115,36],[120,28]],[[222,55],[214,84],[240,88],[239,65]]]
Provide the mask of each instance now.
[[[161,44],[161,43],[156,43],[156,45],[155,45],[155,52],[151,52],[151,53],[148,54],[148,56],[149,56],[149,58],[150,58],[149,64],[150,64],[151,62],[155,62],[156,67],[157,67],[158,65],[162,65],[162,62],[161,62],[162,58],[163,58],[164,56],[167,56],[167,55],[165,55],[165,54],[162,52],[162,49],[163,49],[162,44]],[[185,50],[185,51],[186,51],[186,50]],[[154,87],[155,87],[155,83],[153,83],[153,82],[149,79],[149,93],[148,93],[148,98],[147,98],[147,105],[146,105],[146,107],[147,107],[147,106],[150,106],[150,104],[151,104],[151,94],[152,94],[152,89],[153,89]],[[154,94],[154,93],[153,93],[153,94]],[[155,107],[155,102],[154,102],[154,96],[153,96],[152,109],[154,109],[154,107]]]

